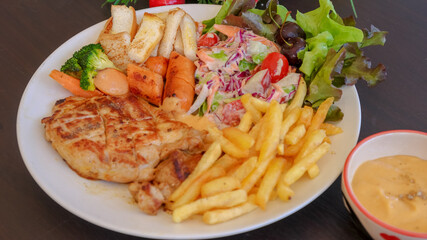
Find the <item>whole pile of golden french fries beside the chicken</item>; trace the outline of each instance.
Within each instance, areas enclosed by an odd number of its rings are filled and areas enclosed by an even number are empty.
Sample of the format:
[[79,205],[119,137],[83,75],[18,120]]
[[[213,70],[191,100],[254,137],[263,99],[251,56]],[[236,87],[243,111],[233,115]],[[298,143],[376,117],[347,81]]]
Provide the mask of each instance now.
[[292,184],[305,172],[315,178],[316,162],[330,148],[329,136],[342,129],[324,123],[333,98],[315,112],[302,107],[306,91],[302,79],[289,105],[242,96],[246,113],[240,124],[210,129],[216,140],[170,196],[173,221],[200,214],[207,224],[225,222],[265,209],[277,197],[289,201],[295,194]]

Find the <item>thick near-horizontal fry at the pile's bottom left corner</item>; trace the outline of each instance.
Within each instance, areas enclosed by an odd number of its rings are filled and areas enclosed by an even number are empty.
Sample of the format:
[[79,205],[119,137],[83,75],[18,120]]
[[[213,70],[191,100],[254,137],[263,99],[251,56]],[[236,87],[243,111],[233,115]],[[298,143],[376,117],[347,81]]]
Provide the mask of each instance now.
[[220,193],[212,197],[200,198],[175,209],[172,213],[172,220],[179,223],[194,214],[203,213],[214,208],[233,207],[246,201],[247,194],[242,189]]

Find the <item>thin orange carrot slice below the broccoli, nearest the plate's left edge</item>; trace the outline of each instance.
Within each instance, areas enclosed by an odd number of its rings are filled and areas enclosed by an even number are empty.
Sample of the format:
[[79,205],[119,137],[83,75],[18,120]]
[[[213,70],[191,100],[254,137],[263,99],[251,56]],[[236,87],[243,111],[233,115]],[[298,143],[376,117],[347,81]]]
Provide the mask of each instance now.
[[51,78],[61,84],[65,89],[70,91],[75,96],[79,97],[95,97],[103,95],[100,91],[86,91],[80,87],[80,80],[68,74],[60,72],[56,69],[49,74]]

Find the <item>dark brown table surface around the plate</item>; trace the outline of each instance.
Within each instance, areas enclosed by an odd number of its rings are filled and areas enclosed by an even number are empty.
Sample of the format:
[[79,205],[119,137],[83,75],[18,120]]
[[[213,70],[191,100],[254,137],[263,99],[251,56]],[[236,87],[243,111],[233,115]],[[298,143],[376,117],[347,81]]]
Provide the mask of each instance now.
[[[427,131],[427,1],[354,0],[358,27],[388,30],[384,47],[366,50],[388,78],[375,88],[357,84],[362,106],[360,139],[392,129]],[[0,8],[0,239],[137,239],[80,219],[36,184],[21,158],[16,114],[32,74],[52,51],[81,30],[110,16],[102,0],[14,0]],[[302,12],[314,0],[281,1]],[[335,0],[341,16],[349,0]],[[139,0],[136,9],[148,7]],[[43,141],[43,139],[40,139]],[[341,200],[340,178],[319,198],[269,226],[224,239],[365,239]]]

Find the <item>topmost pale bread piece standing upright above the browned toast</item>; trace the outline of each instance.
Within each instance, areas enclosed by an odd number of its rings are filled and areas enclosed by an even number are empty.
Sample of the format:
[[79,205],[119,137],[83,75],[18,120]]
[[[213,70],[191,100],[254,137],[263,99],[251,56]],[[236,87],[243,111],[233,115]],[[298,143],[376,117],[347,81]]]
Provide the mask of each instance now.
[[127,32],[130,34],[131,39],[133,39],[138,28],[135,9],[133,7],[126,7],[125,5],[112,5],[111,16],[113,18],[113,26],[109,33]]

